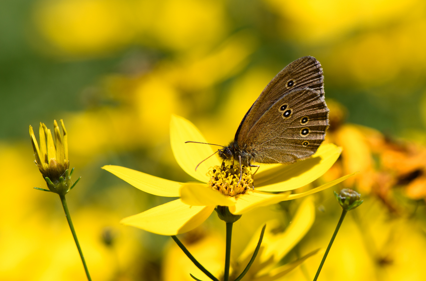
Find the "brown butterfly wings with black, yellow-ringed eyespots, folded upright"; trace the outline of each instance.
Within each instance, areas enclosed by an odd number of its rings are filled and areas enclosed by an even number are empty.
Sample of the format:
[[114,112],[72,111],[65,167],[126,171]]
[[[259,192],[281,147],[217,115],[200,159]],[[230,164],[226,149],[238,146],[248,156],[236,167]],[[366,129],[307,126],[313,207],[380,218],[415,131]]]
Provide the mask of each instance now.
[[317,151],[327,126],[321,65],[313,57],[304,57],[265,87],[242,120],[235,140],[255,162],[291,163]]

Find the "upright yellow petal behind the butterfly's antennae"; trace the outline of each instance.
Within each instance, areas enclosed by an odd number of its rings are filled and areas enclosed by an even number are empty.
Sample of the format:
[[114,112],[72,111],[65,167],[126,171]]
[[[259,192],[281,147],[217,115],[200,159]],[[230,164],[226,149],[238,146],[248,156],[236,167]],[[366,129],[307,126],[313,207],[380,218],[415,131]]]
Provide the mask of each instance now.
[[197,171],[195,171],[196,166],[212,155],[214,151],[210,145],[185,143],[186,141],[207,142],[194,124],[183,117],[172,115],[170,120],[170,145],[176,161],[191,177],[207,183],[210,178],[207,175],[208,169],[219,164],[217,156],[213,155],[202,162]]

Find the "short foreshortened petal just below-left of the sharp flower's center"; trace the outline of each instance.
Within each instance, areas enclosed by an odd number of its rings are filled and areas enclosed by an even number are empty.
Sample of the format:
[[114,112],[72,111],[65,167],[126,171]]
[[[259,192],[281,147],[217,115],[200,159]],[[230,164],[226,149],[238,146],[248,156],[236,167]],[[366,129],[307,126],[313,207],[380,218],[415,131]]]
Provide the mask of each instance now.
[[192,206],[233,206],[235,200],[204,183],[186,183],[181,187],[182,202]]

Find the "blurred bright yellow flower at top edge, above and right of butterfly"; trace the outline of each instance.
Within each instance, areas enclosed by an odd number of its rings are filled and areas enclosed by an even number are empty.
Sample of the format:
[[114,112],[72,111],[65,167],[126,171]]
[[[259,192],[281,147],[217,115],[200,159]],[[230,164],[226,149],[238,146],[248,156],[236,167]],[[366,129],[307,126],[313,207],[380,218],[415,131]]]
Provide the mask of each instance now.
[[283,35],[286,37],[293,35],[301,41],[311,43],[336,40],[353,29],[393,20],[420,1],[265,0],[265,2],[285,19],[282,26],[286,34]]

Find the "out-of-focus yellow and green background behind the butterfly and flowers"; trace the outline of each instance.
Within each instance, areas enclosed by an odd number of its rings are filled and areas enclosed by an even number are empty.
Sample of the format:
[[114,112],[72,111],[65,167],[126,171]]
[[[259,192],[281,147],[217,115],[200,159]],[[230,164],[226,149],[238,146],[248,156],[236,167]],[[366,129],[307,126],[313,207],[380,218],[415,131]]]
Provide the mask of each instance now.
[[[189,119],[209,142],[226,145],[274,75],[305,55],[322,64],[326,101],[337,120],[331,119],[326,142],[343,147],[341,159],[317,182],[361,171],[333,188],[355,188],[365,196],[345,219],[319,280],[426,278],[424,1],[28,2],[25,9],[5,6],[21,15],[23,29],[11,34],[21,34],[32,55],[5,45],[15,49],[12,57],[23,70],[0,81],[6,89],[0,93],[6,116],[0,138],[0,280],[85,280],[56,194],[33,189],[46,186],[33,162],[28,125],[42,121],[52,128],[60,118],[69,133],[74,177],[82,177],[67,198],[93,280],[192,280],[185,271],[192,268],[189,260],[170,238],[119,224],[164,198],[144,194],[100,167],[122,165],[193,181],[170,149],[171,114]],[[0,55],[0,65],[12,73],[6,55]],[[36,67],[23,67],[26,61]],[[47,65],[55,67],[47,72]],[[74,72],[65,71],[73,66]],[[55,72],[64,73],[62,80]],[[9,91],[15,80],[26,96]],[[322,250],[279,280],[314,277],[340,215],[332,191],[315,195],[314,225],[281,264]],[[288,226],[300,202],[243,216],[234,226],[233,259],[266,221],[277,218]],[[204,263],[209,260],[203,249],[211,251],[210,266],[220,274],[216,255],[224,249],[212,245],[223,244],[223,222],[213,213],[203,227],[189,249]],[[197,233],[188,235],[182,239]]]

